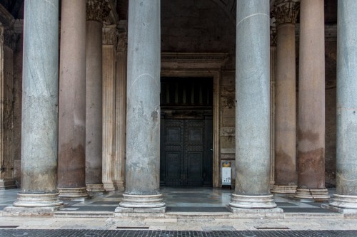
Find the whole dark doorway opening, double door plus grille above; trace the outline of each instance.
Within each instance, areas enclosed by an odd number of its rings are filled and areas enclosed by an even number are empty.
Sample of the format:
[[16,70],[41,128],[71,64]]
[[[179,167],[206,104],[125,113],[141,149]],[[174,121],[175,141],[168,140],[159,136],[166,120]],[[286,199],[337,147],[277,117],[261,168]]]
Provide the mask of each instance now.
[[161,78],[160,181],[212,186],[213,78]]

